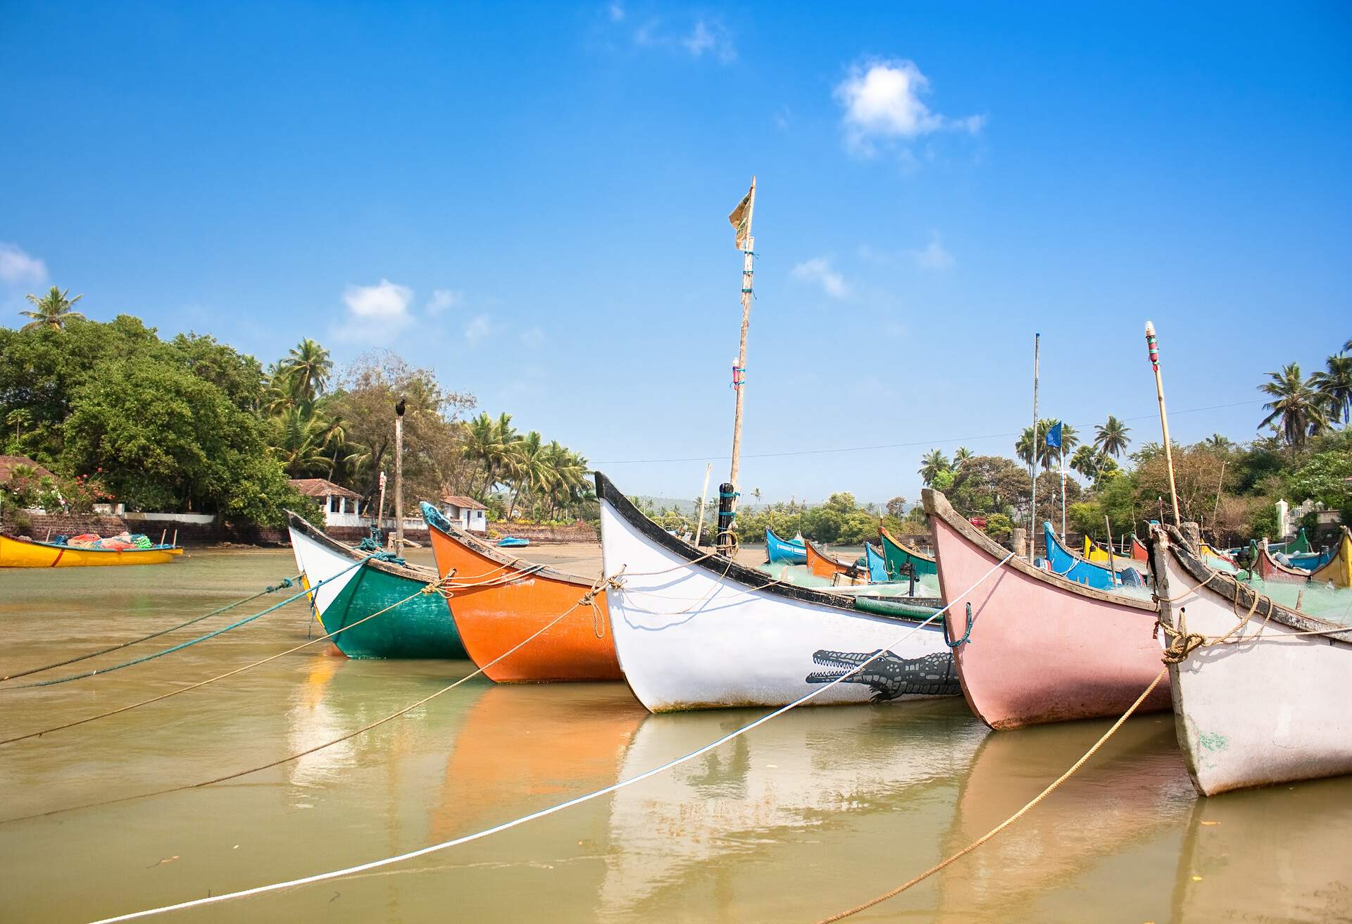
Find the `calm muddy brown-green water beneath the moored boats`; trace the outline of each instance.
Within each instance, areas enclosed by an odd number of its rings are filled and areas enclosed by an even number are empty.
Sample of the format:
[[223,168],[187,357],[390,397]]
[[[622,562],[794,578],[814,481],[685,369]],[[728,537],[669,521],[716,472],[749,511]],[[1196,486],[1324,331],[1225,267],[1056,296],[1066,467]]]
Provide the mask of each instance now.
[[[589,549],[533,555],[596,570]],[[289,574],[285,551],[0,572],[0,674],[181,621]],[[124,660],[227,620],[41,676]],[[220,674],[310,630],[292,605],[146,664],[0,693],[0,737]],[[264,764],[472,670],[349,662],[323,648],[0,747],[0,818]],[[273,770],[0,824],[0,920],[93,920],[414,850],[641,772],[757,714],[648,716],[622,683],[470,680]],[[961,701],[803,709],[672,772],[483,841],[164,920],[813,921],[984,833],[1105,728],[994,735]],[[1352,779],[1199,801],[1171,717],[1145,716],[999,839],[854,920],[1347,920],[1348,843]]]

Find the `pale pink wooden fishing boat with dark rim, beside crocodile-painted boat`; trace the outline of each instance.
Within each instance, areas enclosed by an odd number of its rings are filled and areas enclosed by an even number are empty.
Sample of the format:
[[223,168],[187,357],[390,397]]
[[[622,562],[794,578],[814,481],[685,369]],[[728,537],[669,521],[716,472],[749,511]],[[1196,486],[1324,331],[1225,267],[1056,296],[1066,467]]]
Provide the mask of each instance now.
[[[922,491],[957,678],[995,729],[1126,712],[1163,667],[1152,601],[1092,590],[1010,559],[938,491]],[[973,590],[972,586],[976,584]],[[957,594],[965,594],[959,597]],[[1161,682],[1138,712],[1168,709]]]

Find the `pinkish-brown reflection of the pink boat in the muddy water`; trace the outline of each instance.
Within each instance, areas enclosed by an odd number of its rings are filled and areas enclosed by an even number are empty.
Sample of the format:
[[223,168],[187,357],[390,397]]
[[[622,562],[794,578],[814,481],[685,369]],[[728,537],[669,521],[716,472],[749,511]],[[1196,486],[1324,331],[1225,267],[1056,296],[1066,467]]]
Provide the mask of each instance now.
[[[957,852],[1014,814],[1109,725],[1080,721],[988,736],[963,782],[942,855]],[[1084,913],[1096,908],[1113,909],[1106,917],[1119,915],[1121,920],[1169,920],[1168,897],[1144,889],[1142,882],[1167,881],[1172,844],[1192,801],[1172,720],[1132,718],[1033,810],[934,877],[934,917],[1084,920],[1096,917]],[[923,869],[904,870],[876,892]]]

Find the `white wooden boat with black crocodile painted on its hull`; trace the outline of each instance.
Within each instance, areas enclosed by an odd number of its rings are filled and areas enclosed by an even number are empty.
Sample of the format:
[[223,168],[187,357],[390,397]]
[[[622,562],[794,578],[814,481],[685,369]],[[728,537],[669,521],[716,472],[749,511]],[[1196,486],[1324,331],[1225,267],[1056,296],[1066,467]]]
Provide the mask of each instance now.
[[957,695],[942,626],[915,628],[934,610],[784,584],[706,555],[600,472],[596,496],[606,574],[622,575],[610,594],[615,649],[649,710],[781,706],[846,675],[811,703]]

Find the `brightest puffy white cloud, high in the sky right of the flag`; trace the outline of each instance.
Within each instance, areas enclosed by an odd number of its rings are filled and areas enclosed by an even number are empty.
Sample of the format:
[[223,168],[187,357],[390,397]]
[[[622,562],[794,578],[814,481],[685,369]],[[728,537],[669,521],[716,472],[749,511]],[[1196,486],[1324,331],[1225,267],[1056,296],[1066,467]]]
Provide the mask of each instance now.
[[836,88],[836,100],[845,110],[845,141],[861,154],[875,152],[873,142],[910,141],[941,130],[980,131],[979,115],[952,119],[932,112],[921,96],[929,92],[929,78],[913,61],[883,60],[854,65]]

